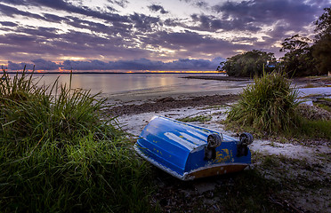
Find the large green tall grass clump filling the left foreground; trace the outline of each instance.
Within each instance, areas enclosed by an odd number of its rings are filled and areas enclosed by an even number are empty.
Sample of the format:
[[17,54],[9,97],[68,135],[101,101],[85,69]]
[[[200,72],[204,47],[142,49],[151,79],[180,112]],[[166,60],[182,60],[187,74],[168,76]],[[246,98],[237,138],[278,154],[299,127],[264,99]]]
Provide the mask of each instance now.
[[148,167],[114,119],[101,119],[97,95],[3,69],[0,212],[151,211]]

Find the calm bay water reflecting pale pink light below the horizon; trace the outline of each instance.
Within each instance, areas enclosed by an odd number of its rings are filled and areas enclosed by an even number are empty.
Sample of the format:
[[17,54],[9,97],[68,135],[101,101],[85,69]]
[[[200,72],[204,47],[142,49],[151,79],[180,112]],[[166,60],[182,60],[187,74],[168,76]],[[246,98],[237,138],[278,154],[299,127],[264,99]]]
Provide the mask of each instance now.
[[[238,93],[248,82],[224,82],[181,78],[202,74],[77,74],[72,76],[72,88],[101,91],[109,101],[136,101],[166,96],[187,97],[211,94]],[[221,74],[204,74],[221,75]],[[69,85],[68,74],[36,74],[39,84],[59,83]]]

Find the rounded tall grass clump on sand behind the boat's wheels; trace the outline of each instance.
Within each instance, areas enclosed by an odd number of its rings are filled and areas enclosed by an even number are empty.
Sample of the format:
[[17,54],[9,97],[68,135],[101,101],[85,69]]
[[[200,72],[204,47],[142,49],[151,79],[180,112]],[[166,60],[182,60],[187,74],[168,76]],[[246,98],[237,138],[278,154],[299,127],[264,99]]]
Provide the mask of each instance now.
[[255,77],[230,110],[227,120],[267,133],[287,131],[295,126],[297,95],[298,91],[291,87],[285,75],[274,72]]

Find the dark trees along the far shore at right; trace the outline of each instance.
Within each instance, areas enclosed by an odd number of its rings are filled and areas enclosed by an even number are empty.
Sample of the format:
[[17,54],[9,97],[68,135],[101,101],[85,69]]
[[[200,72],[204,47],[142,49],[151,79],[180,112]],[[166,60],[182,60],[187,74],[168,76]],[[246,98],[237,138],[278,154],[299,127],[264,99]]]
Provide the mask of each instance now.
[[217,70],[229,76],[260,76],[275,69],[284,71],[289,77],[327,75],[331,71],[331,7],[315,21],[317,35],[312,41],[298,34],[284,40],[279,51],[286,52],[276,60],[274,53],[246,51],[220,63]]

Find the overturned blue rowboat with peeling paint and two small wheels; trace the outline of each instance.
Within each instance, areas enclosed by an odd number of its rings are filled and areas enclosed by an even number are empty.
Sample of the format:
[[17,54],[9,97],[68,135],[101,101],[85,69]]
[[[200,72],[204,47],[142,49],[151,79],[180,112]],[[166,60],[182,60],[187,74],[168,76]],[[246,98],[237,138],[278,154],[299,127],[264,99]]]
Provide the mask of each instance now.
[[145,160],[182,180],[244,170],[251,163],[248,145],[253,136],[239,140],[206,128],[155,116],[141,131],[134,149]]

